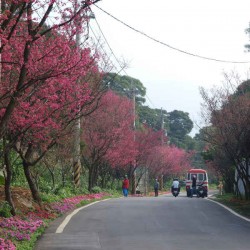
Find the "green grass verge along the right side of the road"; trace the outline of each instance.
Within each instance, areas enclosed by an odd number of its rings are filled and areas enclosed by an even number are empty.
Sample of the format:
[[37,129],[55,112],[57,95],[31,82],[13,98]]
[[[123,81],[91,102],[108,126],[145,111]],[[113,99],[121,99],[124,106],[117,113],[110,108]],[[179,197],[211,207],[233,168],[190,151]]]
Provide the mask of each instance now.
[[215,195],[214,200],[250,219],[250,201],[240,200],[234,194]]

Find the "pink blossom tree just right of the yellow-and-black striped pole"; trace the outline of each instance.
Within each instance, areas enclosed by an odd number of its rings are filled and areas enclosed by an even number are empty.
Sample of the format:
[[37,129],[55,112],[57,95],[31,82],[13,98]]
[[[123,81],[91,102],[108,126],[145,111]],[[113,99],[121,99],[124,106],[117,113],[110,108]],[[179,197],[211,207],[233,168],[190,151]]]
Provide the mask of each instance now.
[[97,183],[101,166],[125,166],[135,156],[133,109],[130,100],[107,92],[99,107],[83,120],[85,148],[82,160],[89,171],[89,190]]

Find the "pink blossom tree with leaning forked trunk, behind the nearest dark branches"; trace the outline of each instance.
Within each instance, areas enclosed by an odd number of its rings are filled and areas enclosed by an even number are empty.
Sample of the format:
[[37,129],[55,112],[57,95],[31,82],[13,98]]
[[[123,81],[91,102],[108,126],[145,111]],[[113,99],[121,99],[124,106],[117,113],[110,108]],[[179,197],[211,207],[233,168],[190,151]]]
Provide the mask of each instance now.
[[[22,27],[20,31],[22,34]],[[18,142],[15,149],[23,160],[33,198],[38,202],[30,167],[56,144],[72,121],[90,112],[86,106],[100,95],[98,86],[101,84],[98,57],[91,49],[78,48],[71,36],[56,32],[51,35],[37,40],[30,49],[25,87],[22,94],[15,97],[18,105],[12,110],[11,123],[5,128],[11,143]],[[18,36],[12,38],[5,46],[8,50],[2,54],[2,59],[22,61],[18,48],[24,44],[23,40]],[[12,98],[8,95],[15,92],[20,71],[19,67],[3,65],[1,119],[5,119],[6,107]]]

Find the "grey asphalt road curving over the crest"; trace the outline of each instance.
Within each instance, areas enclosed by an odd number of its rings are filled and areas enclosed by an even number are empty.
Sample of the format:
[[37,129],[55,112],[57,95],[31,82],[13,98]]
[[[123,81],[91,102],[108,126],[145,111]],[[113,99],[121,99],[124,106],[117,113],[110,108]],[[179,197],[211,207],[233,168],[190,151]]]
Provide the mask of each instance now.
[[121,198],[75,214],[55,233],[56,220],[36,250],[249,250],[250,222],[202,198]]

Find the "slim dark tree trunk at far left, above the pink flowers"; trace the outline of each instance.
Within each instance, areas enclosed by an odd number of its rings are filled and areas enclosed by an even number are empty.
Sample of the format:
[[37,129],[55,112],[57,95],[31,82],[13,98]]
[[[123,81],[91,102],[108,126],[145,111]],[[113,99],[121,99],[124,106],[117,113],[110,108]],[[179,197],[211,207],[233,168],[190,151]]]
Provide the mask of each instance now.
[[[4,147],[5,147],[5,142],[4,142]],[[5,200],[11,206],[11,214],[16,215],[15,205],[13,203],[12,195],[11,195],[12,168],[11,168],[11,163],[10,163],[10,158],[9,158],[9,151],[6,150],[6,148],[4,151],[4,163],[5,163],[5,168],[6,168],[5,185],[4,185]]]

